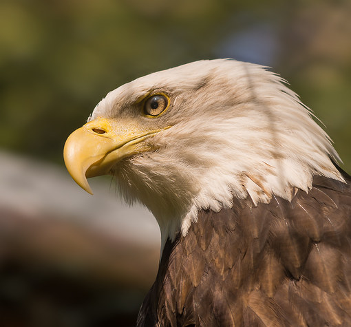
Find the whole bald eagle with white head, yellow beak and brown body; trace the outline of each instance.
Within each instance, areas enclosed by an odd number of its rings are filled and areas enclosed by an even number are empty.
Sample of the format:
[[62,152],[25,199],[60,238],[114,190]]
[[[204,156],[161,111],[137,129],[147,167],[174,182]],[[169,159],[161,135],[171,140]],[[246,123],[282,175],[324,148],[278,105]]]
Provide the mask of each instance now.
[[161,231],[138,326],[351,325],[351,178],[260,65],[197,61],[118,87],[65,144]]

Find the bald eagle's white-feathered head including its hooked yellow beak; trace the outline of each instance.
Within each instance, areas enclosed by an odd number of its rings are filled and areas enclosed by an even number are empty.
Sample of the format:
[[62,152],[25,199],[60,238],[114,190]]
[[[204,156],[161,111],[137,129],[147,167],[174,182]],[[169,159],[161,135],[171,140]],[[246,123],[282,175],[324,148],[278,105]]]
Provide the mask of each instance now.
[[162,243],[233,198],[291,200],[312,176],[343,180],[326,133],[282,79],[260,65],[197,61],[109,92],[67,139],[65,165],[87,178],[110,174],[128,202],[145,204]]

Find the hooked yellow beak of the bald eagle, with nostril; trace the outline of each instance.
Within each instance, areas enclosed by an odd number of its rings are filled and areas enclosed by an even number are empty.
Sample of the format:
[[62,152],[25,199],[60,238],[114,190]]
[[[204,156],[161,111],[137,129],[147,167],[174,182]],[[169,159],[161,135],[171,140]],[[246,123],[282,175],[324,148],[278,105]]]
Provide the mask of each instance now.
[[92,194],[87,178],[105,175],[119,160],[151,150],[142,141],[158,131],[147,131],[129,121],[117,124],[105,118],[92,120],[67,138],[65,165],[75,182]]

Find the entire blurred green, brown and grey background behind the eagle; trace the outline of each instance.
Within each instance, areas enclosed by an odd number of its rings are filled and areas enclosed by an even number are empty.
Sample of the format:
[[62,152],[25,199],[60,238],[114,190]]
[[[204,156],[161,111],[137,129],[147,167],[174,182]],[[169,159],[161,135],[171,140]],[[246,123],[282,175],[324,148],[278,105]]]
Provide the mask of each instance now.
[[160,233],[63,167],[67,136],[111,89],[199,59],[272,67],[351,172],[350,0],[2,0],[0,326],[134,326]]

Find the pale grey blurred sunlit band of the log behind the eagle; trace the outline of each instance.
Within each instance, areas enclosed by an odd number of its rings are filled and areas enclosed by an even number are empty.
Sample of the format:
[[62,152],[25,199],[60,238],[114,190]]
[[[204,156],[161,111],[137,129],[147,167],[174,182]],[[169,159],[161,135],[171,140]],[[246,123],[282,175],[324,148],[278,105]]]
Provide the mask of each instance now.
[[121,202],[109,178],[89,180],[90,196],[61,167],[0,152],[0,206],[35,219],[36,215],[60,216],[138,244],[158,246],[160,232],[153,215],[136,204]]

